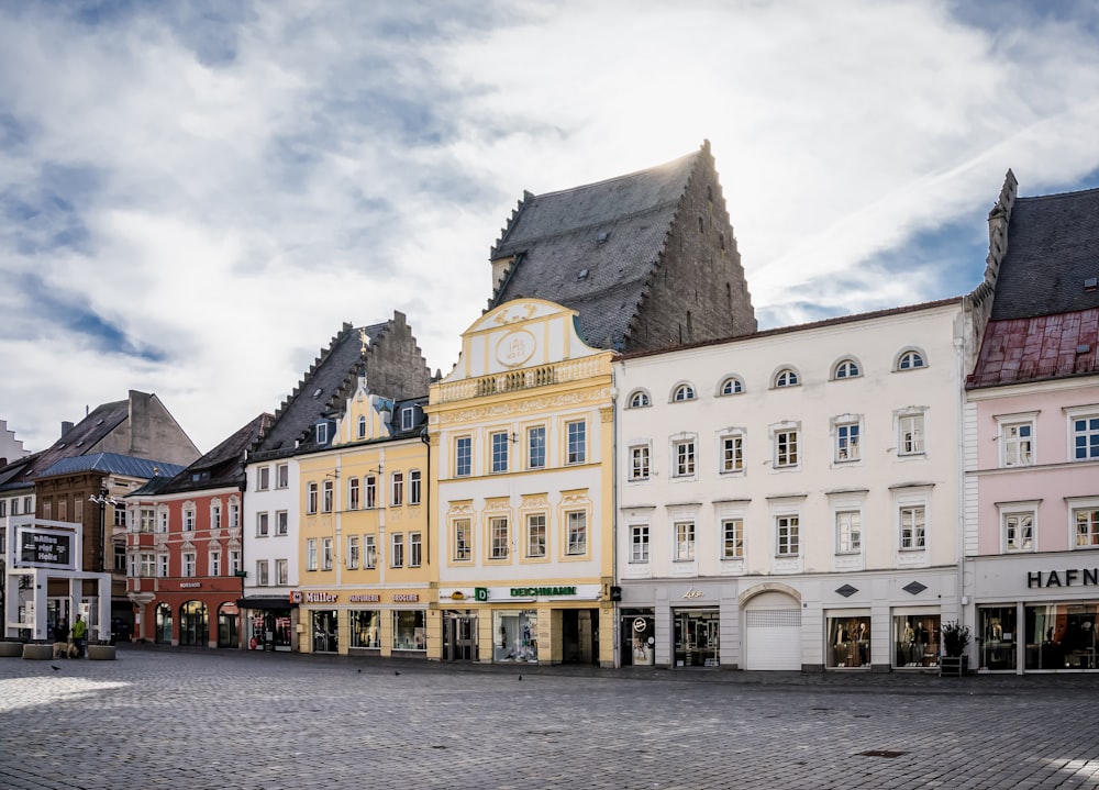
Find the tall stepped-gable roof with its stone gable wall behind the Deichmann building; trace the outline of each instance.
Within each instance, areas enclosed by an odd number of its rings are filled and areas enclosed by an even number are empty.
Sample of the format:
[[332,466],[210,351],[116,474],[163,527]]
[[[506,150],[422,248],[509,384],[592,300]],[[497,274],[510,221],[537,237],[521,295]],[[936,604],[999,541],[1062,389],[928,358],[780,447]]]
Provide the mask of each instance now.
[[595,347],[643,351],[756,329],[709,142],[626,176],[524,192],[490,257],[489,310],[520,298],[563,304]]

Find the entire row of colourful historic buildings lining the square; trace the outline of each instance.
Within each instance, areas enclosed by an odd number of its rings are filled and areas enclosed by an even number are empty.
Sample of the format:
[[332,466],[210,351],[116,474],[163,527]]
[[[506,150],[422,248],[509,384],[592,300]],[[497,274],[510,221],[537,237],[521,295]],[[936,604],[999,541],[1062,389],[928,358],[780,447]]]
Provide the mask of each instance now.
[[1094,669],[1099,190],[1009,173],[988,230],[967,294],[758,331],[708,144],[525,193],[446,376],[396,312],[201,457],[65,455],[92,412],[0,470],[8,636],[98,594],[20,589],[18,525],[75,523],[164,644],[906,670],[957,620],[983,670]]

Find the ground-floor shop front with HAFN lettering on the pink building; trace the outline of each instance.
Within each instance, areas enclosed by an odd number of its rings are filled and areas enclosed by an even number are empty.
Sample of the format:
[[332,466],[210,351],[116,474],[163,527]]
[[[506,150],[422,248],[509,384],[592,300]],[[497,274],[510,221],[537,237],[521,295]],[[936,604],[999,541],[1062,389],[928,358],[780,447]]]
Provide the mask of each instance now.
[[1080,553],[974,561],[981,671],[1099,669],[1099,566]]

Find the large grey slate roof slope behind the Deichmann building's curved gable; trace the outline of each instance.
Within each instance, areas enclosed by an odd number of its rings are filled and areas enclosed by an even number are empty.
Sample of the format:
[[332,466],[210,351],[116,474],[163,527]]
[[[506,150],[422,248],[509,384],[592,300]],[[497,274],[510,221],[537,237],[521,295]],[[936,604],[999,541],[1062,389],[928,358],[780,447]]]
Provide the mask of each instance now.
[[700,156],[559,192],[525,192],[491,251],[493,260],[518,258],[489,308],[547,299],[579,312],[589,345],[621,343]]

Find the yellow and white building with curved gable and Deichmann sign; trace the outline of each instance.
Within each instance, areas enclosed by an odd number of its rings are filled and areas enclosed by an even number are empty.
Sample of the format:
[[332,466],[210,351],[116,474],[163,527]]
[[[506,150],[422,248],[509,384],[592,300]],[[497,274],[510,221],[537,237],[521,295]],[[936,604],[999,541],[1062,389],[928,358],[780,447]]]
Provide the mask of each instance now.
[[515,299],[432,385],[430,658],[613,666],[612,355]]

